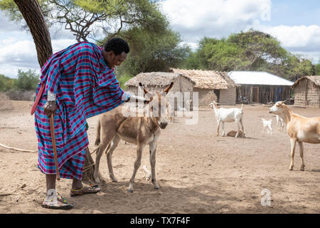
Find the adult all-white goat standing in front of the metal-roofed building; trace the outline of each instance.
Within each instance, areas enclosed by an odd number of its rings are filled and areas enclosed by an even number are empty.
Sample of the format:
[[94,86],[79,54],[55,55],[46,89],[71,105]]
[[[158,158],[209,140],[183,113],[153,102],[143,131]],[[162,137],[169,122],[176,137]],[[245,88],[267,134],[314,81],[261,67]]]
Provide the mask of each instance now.
[[213,101],[209,104],[209,106],[215,111],[215,118],[217,119],[218,123],[217,136],[219,135],[220,123],[222,123],[223,128],[222,136],[225,136],[225,122],[235,122],[237,124],[238,130],[235,138],[238,138],[240,125],[242,133],[245,132],[242,124],[243,104],[241,105],[241,108],[219,108],[217,103]]

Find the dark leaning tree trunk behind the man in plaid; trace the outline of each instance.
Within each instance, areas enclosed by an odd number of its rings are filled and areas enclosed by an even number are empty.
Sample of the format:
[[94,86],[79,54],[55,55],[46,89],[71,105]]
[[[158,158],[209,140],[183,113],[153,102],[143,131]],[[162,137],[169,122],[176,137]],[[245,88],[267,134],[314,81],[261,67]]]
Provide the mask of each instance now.
[[[26,20],[26,24],[28,24],[33,41],[36,45],[38,63],[42,68],[50,56],[53,55],[53,51],[49,29],[40,5],[37,0],[14,0],[14,2],[21,11],[23,18]],[[82,180],[94,180],[93,173],[95,172],[95,162],[93,162],[88,148],[86,149],[84,167],[85,172],[83,172]]]

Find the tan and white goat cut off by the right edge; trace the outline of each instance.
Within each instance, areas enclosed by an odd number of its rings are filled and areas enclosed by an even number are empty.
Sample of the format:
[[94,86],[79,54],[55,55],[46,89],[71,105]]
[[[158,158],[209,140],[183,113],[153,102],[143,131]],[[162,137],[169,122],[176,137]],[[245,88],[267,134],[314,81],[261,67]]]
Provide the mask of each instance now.
[[286,121],[287,133],[291,142],[291,163],[289,170],[293,170],[294,166],[294,150],[296,142],[299,143],[300,157],[302,160],[300,170],[304,171],[304,147],[302,142],[320,143],[320,116],[314,118],[306,118],[302,115],[292,113],[283,101],[278,101],[270,109],[269,113],[279,115]]

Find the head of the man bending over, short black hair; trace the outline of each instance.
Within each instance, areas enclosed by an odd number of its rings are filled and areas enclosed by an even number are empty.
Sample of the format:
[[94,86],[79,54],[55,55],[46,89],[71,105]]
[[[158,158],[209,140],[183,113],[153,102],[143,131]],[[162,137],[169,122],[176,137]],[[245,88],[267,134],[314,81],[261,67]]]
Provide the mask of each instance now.
[[105,44],[103,58],[111,69],[114,66],[120,66],[126,60],[129,51],[129,45],[126,41],[122,38],[112,38]]

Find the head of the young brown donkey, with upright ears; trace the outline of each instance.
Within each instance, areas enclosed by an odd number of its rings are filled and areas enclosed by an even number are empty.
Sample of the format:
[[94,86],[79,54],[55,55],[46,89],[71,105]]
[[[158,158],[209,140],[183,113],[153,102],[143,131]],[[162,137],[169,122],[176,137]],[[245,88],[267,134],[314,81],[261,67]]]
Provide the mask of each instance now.
[[[139,86],[142,86],[142,83],[139,83]],[[170,86],[168,86],[161,93],[159,91],[148,92],[146,88],[143,88],[144,94],[152,98],[149,101],[149,118],[151,118],[152,122],[158,125],[161,129],[166,128],[166,125],[168,125],[167,113],[169,103],[166,95],[168,94],[172,86],[174,86],[173,82],[171,82]]]

